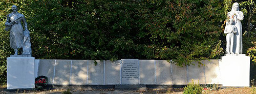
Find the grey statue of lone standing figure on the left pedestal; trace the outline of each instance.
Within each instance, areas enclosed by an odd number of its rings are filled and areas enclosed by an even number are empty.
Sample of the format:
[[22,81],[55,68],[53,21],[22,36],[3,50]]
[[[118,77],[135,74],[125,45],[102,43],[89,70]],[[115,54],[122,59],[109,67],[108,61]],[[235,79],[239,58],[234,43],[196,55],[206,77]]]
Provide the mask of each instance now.
[[5,30],[10,30],[11,48],[14,49],[14,55],[18,55],[18,48],[23,48],[22,55],[31,56],[30,36],[25,16],[17,12],[17,6],[15,5],[12,6],[12,11],[7,15],[5,22]]

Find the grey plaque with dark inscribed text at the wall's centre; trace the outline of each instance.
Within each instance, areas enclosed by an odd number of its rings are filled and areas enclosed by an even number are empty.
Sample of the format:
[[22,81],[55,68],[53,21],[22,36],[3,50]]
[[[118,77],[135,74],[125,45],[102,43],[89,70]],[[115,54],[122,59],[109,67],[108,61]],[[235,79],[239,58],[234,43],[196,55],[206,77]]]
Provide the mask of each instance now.
[[139,59],[121,59],[121,84],[139,84]]

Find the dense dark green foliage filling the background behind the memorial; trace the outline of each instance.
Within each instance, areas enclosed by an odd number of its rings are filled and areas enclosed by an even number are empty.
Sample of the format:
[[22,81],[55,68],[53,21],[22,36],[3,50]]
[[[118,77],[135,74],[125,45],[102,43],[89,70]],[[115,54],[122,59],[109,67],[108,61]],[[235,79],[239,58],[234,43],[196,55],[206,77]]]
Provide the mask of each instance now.
[[256,58],[251,48],[255,46],[252,0],[2,0],[0,83],[6,81],[6,58],[14,54],[4,30],[12,5],[26,16],[37,59],[167,59],[183,66],[224,54],[223,28],[234,2],[245,14],[243,51]]

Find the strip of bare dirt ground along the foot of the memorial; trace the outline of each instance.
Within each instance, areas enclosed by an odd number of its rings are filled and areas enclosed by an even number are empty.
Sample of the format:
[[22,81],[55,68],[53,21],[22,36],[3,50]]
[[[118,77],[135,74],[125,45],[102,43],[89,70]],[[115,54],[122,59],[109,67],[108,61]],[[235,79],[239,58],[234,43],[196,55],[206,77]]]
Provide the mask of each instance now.
[[[44,90],[44,91],[36,91],[36,90],[30,90],[30,91],[4,91],[4,89],[0,89],[0,93],[52,93],[52,94],[57,94],[57,93],[63,93],[63,92],[67,92],[67,89],[54,89],[54,90]],[[203,90],[202,93],[255,93],[256,91],[252,91],[253,88],[252,87],[241,87],[241,88],[222,88],[219,90]],[[255,87],[254,87],[255,90]],[[73,94],[77,94],[77,93],[99,93],[99,94],[105,94],[105,93],[123,93],[123,94],[146,94],[146,93],[177,93],[177,94],[182,94],[183,93],[183,88],[168,88],[168,89],[150,89],[147,88],[147,90],[145,91],[141,91],[141,90],[114,90],[114,88],[112,89],[93,89],[93,90],[70,90],[71,93]]]

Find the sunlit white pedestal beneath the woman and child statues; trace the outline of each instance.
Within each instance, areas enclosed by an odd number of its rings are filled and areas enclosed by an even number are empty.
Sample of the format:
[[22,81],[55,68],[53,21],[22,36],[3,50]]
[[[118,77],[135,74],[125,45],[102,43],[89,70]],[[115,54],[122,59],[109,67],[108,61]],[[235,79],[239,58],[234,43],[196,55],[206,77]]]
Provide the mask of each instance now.
[[222,56],[219,65],[223,86],[250,86],[249,56]]

